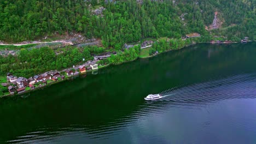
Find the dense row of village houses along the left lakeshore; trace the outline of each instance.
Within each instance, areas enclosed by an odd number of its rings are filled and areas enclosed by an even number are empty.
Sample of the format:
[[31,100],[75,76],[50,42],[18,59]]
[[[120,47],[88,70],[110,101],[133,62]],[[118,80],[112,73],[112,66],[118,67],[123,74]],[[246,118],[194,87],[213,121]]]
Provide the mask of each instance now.
[[88,61],[83,65],[78,65],[77,67],[68,68],[62,71],[51,70],[43,74],[38,74],[30,78],[14,76],[11,73],[7,73],[7,81],[5,83],[8,86],[9,95],[20,94],[26,91],[31,91],[32,89],[44,87],[50,83],[61,81],[79,74],[85,74],[86,70],[97,70],[98,64],[96,61]]

